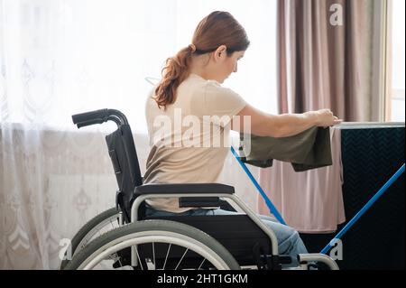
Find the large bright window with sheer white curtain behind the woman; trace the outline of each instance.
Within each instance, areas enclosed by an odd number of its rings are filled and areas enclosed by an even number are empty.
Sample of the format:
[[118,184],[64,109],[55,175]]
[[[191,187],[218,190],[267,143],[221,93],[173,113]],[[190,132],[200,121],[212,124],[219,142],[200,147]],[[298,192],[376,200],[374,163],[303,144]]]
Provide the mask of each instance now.
[[252,42],[225,86],[276,113],[276,1],[32,0],[0,7],[0,116],[74,129],[72,114],[108,107],[146,132],[145,78],[161,78],[164,61],[215,10],[233,14]]

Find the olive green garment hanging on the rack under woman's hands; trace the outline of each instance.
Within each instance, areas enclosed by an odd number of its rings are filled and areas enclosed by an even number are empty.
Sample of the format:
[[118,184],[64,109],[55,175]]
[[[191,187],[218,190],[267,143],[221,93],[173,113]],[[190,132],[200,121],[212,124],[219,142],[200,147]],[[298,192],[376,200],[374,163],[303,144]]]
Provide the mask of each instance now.
[[250,135],[240,136],[242,161],[257,167],[271,167],[273,159],[291,163],[295,172],[333,164],[329,128],[312,127],[298,135],[281,138],[251,135],[248,155]]

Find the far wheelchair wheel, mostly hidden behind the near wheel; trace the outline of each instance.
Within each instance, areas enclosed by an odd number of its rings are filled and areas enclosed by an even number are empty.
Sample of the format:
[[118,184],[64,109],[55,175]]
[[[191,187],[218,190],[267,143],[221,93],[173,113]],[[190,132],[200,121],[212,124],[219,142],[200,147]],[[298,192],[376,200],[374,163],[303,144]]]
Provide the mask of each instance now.
[[[118,218],[119,211],[114,207],[90,219],[88,223],[78,230],[75,237],[72,238],[70,242],[71,255],[76,255],[90,240],[103,235],[107,231],[118,228]],[[60,264],[60,269],[63,269],[68,263],[69,260],[63,260]]]

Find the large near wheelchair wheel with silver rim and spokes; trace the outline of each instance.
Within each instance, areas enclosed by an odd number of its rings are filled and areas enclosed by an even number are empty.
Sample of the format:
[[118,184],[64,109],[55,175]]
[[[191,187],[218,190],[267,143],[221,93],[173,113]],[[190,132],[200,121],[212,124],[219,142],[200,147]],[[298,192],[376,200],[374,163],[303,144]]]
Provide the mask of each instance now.
[[[131,265],[131,250],[137,265]],[[73,269],[218,269],[240,266],[224,246],[197,228],[168,220],[144,220],[93,240],[65,266]]]

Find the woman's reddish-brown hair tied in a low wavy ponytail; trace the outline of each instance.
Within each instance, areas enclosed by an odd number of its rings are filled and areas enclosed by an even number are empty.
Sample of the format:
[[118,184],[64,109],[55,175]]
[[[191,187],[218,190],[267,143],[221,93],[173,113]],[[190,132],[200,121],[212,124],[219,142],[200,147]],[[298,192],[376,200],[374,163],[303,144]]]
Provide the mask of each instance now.
[[206,54],[226,45],[226,53],[230,56],[235,51],[245,51],[249,44],[245,29],[232,14],[222,11],[208,14],[198,23],[192,43],[166,60],[161,82],[155,89],[154,99],[158,107],[166,108],[175,102],[176,89],[189,76],[192,55]]

